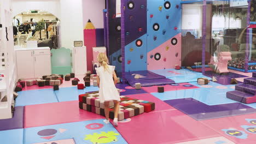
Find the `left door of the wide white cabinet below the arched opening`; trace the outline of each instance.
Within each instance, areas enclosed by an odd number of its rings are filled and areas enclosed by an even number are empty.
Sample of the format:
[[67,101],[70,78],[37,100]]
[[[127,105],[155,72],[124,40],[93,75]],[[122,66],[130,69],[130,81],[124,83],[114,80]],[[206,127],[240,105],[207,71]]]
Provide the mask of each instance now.
[[34,78],[32,51],[16,51],[18,79]]

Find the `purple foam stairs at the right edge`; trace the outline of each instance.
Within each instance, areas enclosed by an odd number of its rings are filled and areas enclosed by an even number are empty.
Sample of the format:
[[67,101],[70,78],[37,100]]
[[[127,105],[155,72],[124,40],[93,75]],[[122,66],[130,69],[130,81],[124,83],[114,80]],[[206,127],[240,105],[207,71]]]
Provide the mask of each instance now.
[[227,92],[226,97],[245,104],[256,103],[256,73],[235,86],[235,91]]

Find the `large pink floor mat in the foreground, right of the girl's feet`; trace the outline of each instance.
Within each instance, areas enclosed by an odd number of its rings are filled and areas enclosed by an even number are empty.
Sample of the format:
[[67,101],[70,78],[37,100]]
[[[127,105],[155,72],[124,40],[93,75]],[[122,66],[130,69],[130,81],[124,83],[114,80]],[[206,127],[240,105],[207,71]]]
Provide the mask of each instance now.
[[143,113],[116,127],[128,143],[177,143],[220,136],[178,110]]

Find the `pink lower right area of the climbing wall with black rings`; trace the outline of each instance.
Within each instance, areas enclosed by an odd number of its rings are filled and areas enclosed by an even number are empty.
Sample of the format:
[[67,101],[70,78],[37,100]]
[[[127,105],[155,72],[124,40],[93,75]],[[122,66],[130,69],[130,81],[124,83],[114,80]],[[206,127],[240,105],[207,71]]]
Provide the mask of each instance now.
[[181,33],[147,53],[148,70],[171,69],[181,66]]

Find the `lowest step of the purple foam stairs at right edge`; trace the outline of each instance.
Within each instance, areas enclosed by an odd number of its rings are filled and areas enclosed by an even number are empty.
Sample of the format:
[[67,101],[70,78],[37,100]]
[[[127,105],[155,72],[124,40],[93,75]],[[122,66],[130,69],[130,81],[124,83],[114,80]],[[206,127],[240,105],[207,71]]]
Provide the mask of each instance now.
[[245,103],[245,104],[249,104],[249,103],[255,103],[255,101],[253,100],[249,100],[254,98],[254,95],[252,94],[248,94],[245,92],[240,92],[240,91],[231,91],[231,92],[226,92],[226,98],[241,102],[241,103]]

